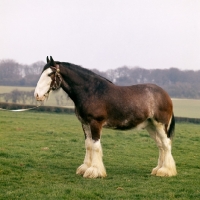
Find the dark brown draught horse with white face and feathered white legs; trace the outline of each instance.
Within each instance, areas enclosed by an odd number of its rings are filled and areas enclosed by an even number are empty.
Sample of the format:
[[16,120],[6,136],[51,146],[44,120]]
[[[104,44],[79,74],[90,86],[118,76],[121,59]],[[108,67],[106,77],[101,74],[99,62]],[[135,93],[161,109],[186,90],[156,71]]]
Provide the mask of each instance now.
[[171,154],[175,130],[173,105],[161,87],[117,86],[86,68],[47,56],[34,96],[37,101],[44,101],[51,91],[59,88],[74,102],[85,135],[86,154],[76,174],[85,178],[107,176],[100,142],[103,127],[146,129],[159,149],[157,166],[151,174],[162,177],[177,174]]

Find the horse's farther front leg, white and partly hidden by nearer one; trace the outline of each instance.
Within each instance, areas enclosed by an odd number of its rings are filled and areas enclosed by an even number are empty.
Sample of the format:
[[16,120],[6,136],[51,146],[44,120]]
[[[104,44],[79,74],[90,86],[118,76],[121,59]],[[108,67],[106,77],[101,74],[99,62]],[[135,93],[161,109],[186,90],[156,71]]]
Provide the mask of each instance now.
[[83,175],[85,171],[91,166],[91,158],[92,158],[92,136],[91,136],[91,130],[89,125],[82,125],[83,131],[85,133],[85,159],[83,161],[83,164],[79,166],[76,170],[76,174]]

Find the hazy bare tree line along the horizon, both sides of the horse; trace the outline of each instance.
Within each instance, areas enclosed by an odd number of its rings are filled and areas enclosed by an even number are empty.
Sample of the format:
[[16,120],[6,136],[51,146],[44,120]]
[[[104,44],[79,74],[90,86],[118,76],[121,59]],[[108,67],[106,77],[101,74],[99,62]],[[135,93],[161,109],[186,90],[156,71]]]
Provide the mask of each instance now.
[[[14,60],[1,60],[0,85],[35,87],[44,65],[43,61],[23,65]],[[200,70],[179,70],[177,68],[147,70],[140,67],[123,66],[105,72],[97,69],[92,71],[106,77],[116,85],[155,83],[163,87],[171,97],[200,98]]]

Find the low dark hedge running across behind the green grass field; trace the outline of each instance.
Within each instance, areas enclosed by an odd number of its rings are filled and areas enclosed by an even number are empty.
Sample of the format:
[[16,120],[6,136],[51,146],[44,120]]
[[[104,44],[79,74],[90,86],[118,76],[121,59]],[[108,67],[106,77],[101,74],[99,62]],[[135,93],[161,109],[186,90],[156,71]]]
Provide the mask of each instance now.
[[[0,111],[1,108],[8,110],[18,110],[18,109],[26,109],[32,108],[33,105],[22,105],[22,104],[11,104],[11,103],[1,103],[0,102]],[[67,107],[55,107],[55,106],[40,106],[34,109],[34,111],[38,112],[56,112],[56,113],[74,113],[74,108]],[[187,117],[175,117],[176,122],[188,122],[194,124],[200,124],[200,119],[198,118],[187,118]]]

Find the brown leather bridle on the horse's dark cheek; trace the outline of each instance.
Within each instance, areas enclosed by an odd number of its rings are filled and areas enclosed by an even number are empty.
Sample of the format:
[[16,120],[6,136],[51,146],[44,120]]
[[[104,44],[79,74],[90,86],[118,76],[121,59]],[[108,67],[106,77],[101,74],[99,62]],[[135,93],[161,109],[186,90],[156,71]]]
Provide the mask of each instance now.
[[50,88],[49,90],[47,91],[47,95],[49,94],[49,92],[51,90],[58,90],[61,86],[61,83],[62,83],[62,76],[60,74],[60,69],[59,69],[59,65],[56,65],[56,66],[53,66],[53,67],[50,67],[53,72],[51,72],[49,74],[49,76],[51,76],[52,74],[54,74],[54,78],[52,79],[52,82],[51,82],[51,85],[50,85]]

